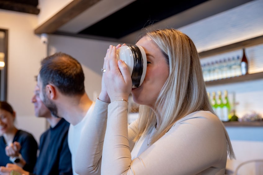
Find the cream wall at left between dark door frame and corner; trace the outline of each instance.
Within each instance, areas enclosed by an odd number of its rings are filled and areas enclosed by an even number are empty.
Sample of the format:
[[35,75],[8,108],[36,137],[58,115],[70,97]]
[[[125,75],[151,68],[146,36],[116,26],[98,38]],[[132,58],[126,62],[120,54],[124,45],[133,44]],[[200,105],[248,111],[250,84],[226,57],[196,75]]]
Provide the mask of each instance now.
[[0,21],[0,28],[8,29],[7,102],[16,111],[18,128],[31,132],[38,141],[46,120],[34,116],[30,100],[47,46],[33,33],[37,15],[0,9]]

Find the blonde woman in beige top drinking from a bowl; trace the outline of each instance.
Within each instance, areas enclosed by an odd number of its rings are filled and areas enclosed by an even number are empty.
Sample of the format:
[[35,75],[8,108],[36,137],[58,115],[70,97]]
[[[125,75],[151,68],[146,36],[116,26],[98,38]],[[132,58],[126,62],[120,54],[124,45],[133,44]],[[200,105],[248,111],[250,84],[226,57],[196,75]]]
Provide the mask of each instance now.
[[[145,33],[137,45],[147,55],[142,85],[132,89],[126,64],[107,50],[102,90],[82,132],[79,174],[216,174],[235,158],[224,125],[206,92],[198,52],[176,29]],[[140,104],[127,128],[127,99]],[[122,100],[123,99],[123,100]]]

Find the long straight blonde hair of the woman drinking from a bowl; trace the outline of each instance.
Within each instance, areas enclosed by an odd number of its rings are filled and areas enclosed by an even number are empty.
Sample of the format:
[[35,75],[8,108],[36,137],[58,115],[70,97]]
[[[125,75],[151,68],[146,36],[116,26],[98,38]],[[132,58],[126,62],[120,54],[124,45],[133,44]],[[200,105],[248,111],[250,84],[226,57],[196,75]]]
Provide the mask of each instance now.
[[[209,102],[199,55],[194,42],[179,30],[158,29],[145,33],[142,37],[149,37],[162,50],[169,64],[169,76],[160,91],[155,106],[161,106],[161,121],[151,143],[161,138],[175,122],[192,112],[215,112]],[[169,97],[169,98],[167,98]],[[140,117],[142,116],[142,117]],[[147,117],[145,117],[147,116]],[[154,111],[145,105],[139,109],[139,134],[149,133],[155,127],[157,119]],[[222,123],[225,130],[225,127]],[[235,158],[230,138],[225,130],[228,154]]]

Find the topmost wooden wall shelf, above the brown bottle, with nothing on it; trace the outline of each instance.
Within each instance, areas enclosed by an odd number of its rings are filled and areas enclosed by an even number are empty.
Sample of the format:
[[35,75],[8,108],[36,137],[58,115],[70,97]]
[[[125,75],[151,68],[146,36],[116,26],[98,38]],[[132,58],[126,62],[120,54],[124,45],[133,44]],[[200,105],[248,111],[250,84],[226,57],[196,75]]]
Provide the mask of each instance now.
[[229,45],[226,45],[226,46],[218,47],[218,48],[215,48],[215,49],[202,51],[202,52],[199,52],[199,56],[200,56],[200,59],[202,59],[204,57],[217,55],[217,54],[221,54],[221,53],[224,53],[224,52],[230,52],[230,51],[233,51],[233,50],[242,49],[244,47],[255,46],[255,45],[258,45],[258,44],[262,44],[262,43],[263,43],[263,35],[258,36],[258,37],[254,37],[254,38],[250,38],[250,39],[247,39],[247,40],[244,40],[244,41],[236,42],[236,43],[233,43],[233,44],[229,44]]

